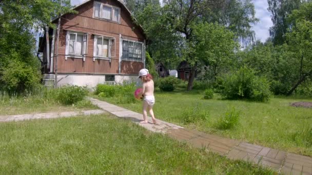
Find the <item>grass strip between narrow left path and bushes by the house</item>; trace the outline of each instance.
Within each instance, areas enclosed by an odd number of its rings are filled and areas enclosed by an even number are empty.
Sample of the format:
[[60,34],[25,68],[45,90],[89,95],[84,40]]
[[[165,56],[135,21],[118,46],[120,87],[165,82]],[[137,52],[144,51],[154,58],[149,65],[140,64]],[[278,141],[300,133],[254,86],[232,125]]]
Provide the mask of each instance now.
[[65,112],[96,108],[89,100],[80,101],[76,105],[62,105],[41,95],[8,97],[0,94],[0,115]]

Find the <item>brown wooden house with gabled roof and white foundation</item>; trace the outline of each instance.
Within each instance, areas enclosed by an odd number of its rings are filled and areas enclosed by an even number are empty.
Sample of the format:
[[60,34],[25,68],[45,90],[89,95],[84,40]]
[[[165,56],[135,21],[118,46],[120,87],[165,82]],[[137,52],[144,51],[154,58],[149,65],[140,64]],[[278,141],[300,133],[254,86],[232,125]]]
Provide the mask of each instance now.
[[[57,71],[58,86],[138,81],[145,68],[146,36],[123,2],[89,0],[74,10],[78,13],[61,16],[58,45],[56,29],[40,38],[45,80],[53,81]],[[59,18],[52,22],[57,25]]]

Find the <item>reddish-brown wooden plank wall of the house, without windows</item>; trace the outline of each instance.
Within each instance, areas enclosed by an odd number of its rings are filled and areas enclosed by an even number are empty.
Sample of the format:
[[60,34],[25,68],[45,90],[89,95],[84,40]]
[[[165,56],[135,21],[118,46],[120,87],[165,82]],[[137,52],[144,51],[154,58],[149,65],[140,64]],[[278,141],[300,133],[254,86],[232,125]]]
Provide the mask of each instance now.
[[[101,73],[101,74],[138,74],[140,69],[144,68],[144,63],[139,61],[120,61],[120,34],[123,39],[144,42],[143,32],[132,22],[127,10],[115,0],[97,1],[121,9],[120,23],[92,18],[93,1],[87,2],[81,7],[76,8],[78,14],[67,14],[61,19],[61,30],[59,38],[59,57],[57,58],[58,73]],[[57,20],[54,21],[57,23]],[[82,58],[65,59],[66,52],[66,34],[67,31],[89,33],[88,51],[85,61]],[[95,59],[93,61],[93,43],[94,34],[115,38],[114,53],[111,62],[104,59]],[[56,40],[56,37],[54,38]],[[54,50],[56,55],[56,50]],[[54,70],[55,70],[55,57]],[[144,58],[143,58],[144,60]],[[119,65],[121,64],[121,65]]]

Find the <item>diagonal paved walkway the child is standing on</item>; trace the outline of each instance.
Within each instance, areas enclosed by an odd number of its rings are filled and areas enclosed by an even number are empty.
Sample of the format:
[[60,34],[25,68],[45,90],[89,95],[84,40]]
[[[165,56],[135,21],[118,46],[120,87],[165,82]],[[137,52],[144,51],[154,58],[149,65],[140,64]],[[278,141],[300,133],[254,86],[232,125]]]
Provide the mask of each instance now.
[[[143,119],[142,114],[101,100],[93,98],[90,100],[103,110],[120,118],[130,119],[152,132],[167,134],[171,138],[188,142],[194,147],[205,148],[207,151],[217,152],[229,159],[251,161],[284,174],[312,174],[312,158],[310,157],[209,135],[161,120],[157,120],[157,124],[141,124],[139,122]],[[148,119],[151,121],[150,117]]]

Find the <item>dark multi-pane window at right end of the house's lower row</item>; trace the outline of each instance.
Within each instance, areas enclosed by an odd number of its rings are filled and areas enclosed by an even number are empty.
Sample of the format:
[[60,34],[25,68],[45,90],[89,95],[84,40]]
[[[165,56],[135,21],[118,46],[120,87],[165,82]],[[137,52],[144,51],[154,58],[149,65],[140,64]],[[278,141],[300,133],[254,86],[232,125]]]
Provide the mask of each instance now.
[[123,40],[122,41],[122,59],[142,61],[143,43],[136,41]]

